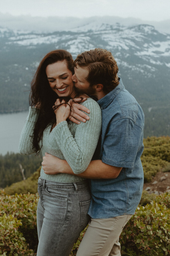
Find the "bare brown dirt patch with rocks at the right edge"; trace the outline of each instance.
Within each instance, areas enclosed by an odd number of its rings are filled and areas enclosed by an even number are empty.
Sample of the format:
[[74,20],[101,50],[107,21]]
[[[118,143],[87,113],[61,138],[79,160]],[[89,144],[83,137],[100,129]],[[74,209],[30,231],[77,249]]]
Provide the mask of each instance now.
[[144,183],[143,189],[149,193],[170,191],[170,172],[158,172],[151,182]]

